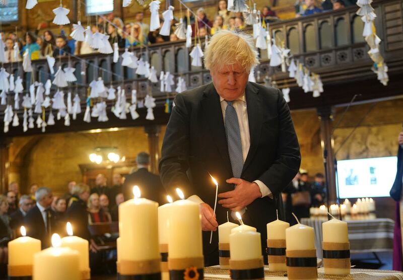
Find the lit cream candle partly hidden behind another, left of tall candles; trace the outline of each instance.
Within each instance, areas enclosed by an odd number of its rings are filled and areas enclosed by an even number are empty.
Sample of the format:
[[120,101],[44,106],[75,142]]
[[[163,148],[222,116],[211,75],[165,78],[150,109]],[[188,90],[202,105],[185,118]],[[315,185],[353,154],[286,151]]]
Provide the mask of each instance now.
[[82,279],[90,279],[90,257],[89,257],[89,246],[88,241],[78,237],[73,236],[72,224],[67,223],[67,233],[69,236],[63,237],[61,239],[61,247],[69,247],[73,250],[77,250],[80,254],[80,271]]

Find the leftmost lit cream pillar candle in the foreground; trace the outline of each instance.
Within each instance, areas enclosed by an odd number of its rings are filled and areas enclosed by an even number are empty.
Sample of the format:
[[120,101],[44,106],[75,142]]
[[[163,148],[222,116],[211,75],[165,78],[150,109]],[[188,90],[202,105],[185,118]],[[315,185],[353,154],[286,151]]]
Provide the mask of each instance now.
[[34,254],[41,250],[41,241],[25,236],[24,227],[21,227],[21,235],[8,243],[8,273],[11,277],[32,276]]

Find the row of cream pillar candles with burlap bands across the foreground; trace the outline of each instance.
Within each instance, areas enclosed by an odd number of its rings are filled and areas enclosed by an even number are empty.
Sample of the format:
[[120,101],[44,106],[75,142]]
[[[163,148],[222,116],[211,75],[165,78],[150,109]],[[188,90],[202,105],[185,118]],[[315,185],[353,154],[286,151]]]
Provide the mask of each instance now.
[[[197,275],[203,278],[204,256],[201,237],[201,218],[199,205],[181,198],[175,202],[168,197],[169,203],[158,206],[157,202],[141,198],[140,189],[133,188],[135,198],[119,205],[119,233],[117,239],[117,271],[124,276],[155,276],[162,279],[183,279],[184,275]],[[219,247],[229,251],[224,257],[229,258],[229,268],[236,264],[256,261],[263,269],[260,233],[256,228],[244,225],[237,214],[241,225],[227,221],[219,226]],[[332,219],[323,223],[323,243],[348,243],[347,223]],[[68,232],[73,235],[71,226]],[[52,236],[53,247],[40,251],[40,241],[21,237],[9,243],[9,276],[29,276],[34,279],[89,279],[88,241],[75,236]],[[288,223],[276,220],[267,224],[267,245],[276,251],[284,249],[284,261],[277,258],[270,261],[272,271],[288,271],[292,276],[292,264],[288,261],[299,256],[288,257],[288,254],[308,252],[308,258],[314,257],[316,275],[316,253],[314,230],[298,223],[290,227]],[[224,247],[222,247],[224,246]],[[225,250],[227,248],[227,250]],[[287,262],[285,251],[287,251]],[[277,256],[275,256],[277,257]],[[305,255],[302,258],[307,257]],[[276,259],[276,258],[274,258]],[[220,258],[221,261],[221,258]],[[223,268],[228,268],[223,263]],[[298,265],[297,265],[298,266]],[[30,267],[31,271],[23,271],[21,267]],[[11,268],[11,269],[10,269]],[[326,270],[327,269],[327,270]],[[28,269],[29,270],[29,269]],[[11,274],[10,274],[11,271]],[[30,273],[28,273],[30,272]],[[348,267],[325,266],[325,273],[349,274]],[[315,276],[316,277],[316,276]],[[315,278],[314,277],[314,278]],[[155,277],[154,277],[155,278]],[[190,277],[194,278],[194,277]],[[295,278],[295,277],[294,277]]]

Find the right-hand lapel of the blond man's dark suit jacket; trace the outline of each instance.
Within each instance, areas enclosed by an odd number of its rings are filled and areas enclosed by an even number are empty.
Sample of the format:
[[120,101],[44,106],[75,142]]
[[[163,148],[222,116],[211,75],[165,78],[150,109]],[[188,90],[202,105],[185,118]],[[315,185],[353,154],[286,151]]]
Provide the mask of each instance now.
[[253,156],[256,153],[257,147],[259,145],[263,115],[258,92],[259,90],[248,82],[245,89],[245,95],[246,95],[246,108],[248,111],[250,148],[245,163],[243,165],[243,171],[246,170],[246,168],[252,161]]

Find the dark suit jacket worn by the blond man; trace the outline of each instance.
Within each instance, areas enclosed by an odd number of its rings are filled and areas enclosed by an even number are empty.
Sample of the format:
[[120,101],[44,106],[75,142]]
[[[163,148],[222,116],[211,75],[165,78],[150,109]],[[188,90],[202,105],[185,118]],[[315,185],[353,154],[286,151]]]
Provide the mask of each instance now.
[[[284,213],[281,192],[298,172],[301,155],[297,135],[291,120],[290,110],[280,90],[248,83],[246,104],[250,132],[250,149],[241,178],[246,181],[260,180],[273,193],[259,198],[247,206],[243,216],[245,224],[256,227],[261,234],[262,248],[266,243],[266,224]],[[232,177],[228,155],[224,120],[220,97],[213,83],[178,94],[175,98],[164,142],[160,162],[160,175],[164,186],[180,186],[186,196],[197,194],[214,207],[216,188],[209,176],[219,182],[219,192],[234,189],[226,179]],[[227,211],[217,205],[217,221],[227,220]],[[218,234],[204,233],[204,254],[212,255],[206,264],[218,261]]]

